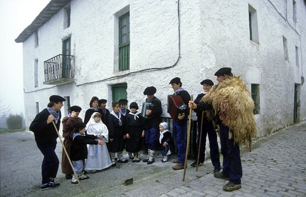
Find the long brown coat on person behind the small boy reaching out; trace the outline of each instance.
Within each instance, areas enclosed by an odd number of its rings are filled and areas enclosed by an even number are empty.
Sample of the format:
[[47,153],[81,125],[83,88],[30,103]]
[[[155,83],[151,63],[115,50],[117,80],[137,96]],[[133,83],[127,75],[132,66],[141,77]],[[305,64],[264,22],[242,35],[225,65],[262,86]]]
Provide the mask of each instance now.
[[[73,137],[73,124],[77,122],[83,122],[83,120],[80,117],[68,117],[66,116],[63,118],[62,123],[63,123],[63,137],[64,137],[64,146],[66,148],[67,153],[69,154],[70,157],[70,149],[72,146],[72,137]],[[70,166],[69,160],[65,154],[65,151],[63,149],[62,151],[62,173],[66,175],[72,175],[73,170]]]

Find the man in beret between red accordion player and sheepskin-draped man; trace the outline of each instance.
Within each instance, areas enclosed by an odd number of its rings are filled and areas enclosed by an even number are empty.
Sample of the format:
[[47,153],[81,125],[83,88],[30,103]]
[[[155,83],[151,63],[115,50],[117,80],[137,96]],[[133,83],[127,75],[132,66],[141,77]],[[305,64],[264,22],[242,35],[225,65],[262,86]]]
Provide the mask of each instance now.
[[[210,79],[205,79],[200,82],[200,84],[203,86],[203,93],[200,93],[197,95],[197,97],[194,100],[195,104],[198,104],[201,100],[202,97],[206,95],[207,92],[209,92],[213,85],[214,82]],[[199,109],[194,109],[196,112],[197,116],[197,125],[198,125],[198,140],[197,140],[197,146],[199,149],[199,162],[197,162],[197,157],[196,160],[191,163],[190,166],[196,167],[197,163],[201,165],[204,160],[205,160],[205,149],[206,149],[206,136],[208,135],[209,139],[209,147],[210,147],[210,156],[211,160],[214,166],[214,173],[217,173],[221,170],[220,168],[220,153],[219,153],[219,146],[218,146],[218,141],[217,141],[217,133],[215,132],[213,122],[211,119],[209,119],[208,115],[209,113],[213,113],[212,110],[210,111],[202,111]],[[202,117],[203,114],[203,117]],[[202,121],[203,119],[203,121]],[[201,130],[202,129],[202,130]],[[202,133],[202,135],[201,135]],[[200,142],[200,137],[201,137],[201,144]],[[198,151],[197,148],[197,151]],[[196,154],[198,155],[198,153]]]

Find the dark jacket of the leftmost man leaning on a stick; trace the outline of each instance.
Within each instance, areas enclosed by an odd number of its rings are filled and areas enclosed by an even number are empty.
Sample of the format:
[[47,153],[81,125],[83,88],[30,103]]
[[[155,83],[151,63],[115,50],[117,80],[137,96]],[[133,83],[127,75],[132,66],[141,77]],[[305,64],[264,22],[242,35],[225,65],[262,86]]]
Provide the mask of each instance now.
[[[47,119],[50,113],[45,108],[41,112],[39,112],[30,125],[30,130],[34,132],[35,141],[39,145],[52,144],[56,142],[58,138],[58,134],[53,123],[47,124]],[[61,111],[59,114],[59,120],[56,123],[56,127],[59,130],[61,124]]]

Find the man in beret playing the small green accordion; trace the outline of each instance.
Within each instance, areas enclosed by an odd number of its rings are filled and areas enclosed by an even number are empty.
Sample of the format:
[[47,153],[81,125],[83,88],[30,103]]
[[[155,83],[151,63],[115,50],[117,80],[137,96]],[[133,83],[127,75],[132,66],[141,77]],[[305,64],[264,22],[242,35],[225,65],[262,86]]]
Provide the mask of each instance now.
[[148,156],[143,159],[143,162],[147,164],[154,163],[155,150],[157,150],[157,140],[159,137],[159,124],[162,121],[161,115],[163,113],[161,101],[154,95],[156,88],[150,86],[143,91],[144,95],[147,95],[145,103],[151,103],[154,105],[152,109],[146,110],[147,118],[144,120],[145,128],[145,144],[148,149]]

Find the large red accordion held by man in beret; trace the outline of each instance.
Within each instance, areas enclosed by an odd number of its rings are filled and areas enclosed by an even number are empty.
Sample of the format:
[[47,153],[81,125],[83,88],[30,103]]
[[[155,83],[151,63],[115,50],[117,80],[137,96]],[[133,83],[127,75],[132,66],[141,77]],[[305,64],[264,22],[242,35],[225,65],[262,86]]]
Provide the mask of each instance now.
[[187,105],[184,103],[183,99],[179,95],[168,95],[168,113],[170,114],[171,118],[174,120],[179,120],[179,116],[181,116]]

